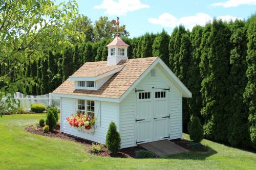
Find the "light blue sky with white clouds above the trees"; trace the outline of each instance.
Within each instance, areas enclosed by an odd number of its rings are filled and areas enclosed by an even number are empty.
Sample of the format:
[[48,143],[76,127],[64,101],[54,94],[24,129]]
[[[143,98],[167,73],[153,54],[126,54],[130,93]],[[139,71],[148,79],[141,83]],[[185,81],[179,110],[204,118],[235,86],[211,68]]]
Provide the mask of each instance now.
[[[56,2],[62,1],[66,0]],[[172,33],[180,24],[191,30],[196,24],[204,25],[213,17],[247,19],[256,12],[256,0],[77,0],[77,3],[79,13],[92,21],[100,16],[108,16],[110,20],[119,16],[120,25],[126,25],[130,37],[146,32],[157,33],[162,29]]]

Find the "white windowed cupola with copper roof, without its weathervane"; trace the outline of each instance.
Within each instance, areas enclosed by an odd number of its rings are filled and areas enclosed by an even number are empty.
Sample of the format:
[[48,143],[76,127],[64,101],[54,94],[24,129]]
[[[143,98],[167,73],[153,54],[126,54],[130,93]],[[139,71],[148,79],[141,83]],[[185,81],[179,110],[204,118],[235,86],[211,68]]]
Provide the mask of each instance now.
[[119,37],[119,34],[116,35],[115,39],[106,45],[108,47],[108,65],[117,65],[121,60],[127,60],[127,48],[128,44],[123,42]]

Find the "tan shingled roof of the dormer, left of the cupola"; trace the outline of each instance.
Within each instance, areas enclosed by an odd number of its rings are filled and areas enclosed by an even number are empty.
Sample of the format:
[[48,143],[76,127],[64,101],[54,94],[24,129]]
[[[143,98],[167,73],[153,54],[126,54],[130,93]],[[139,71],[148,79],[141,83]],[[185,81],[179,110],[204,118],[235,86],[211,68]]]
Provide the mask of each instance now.
[[106,61],[86,62],[70,77],[96,77],[123,65],[107,65]]

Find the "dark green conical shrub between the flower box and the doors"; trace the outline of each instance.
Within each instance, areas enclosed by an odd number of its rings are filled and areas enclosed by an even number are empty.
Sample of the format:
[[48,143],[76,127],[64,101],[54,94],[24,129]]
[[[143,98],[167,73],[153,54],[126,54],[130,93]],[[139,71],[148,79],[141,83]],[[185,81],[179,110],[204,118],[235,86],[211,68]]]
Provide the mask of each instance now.
[[117,154],[121,148],[120,134],[116,130],[116,124],[110,123],[108,133],[106,134],[106,148],[112,153]]

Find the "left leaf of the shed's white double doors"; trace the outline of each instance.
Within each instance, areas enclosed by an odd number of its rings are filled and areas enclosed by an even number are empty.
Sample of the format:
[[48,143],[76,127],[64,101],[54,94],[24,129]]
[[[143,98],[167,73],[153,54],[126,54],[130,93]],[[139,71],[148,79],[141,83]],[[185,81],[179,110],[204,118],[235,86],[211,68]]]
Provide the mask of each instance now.
[[137,98],[137,142],[149,142],[153,134],[153,90],[142,90],[136,93]]

